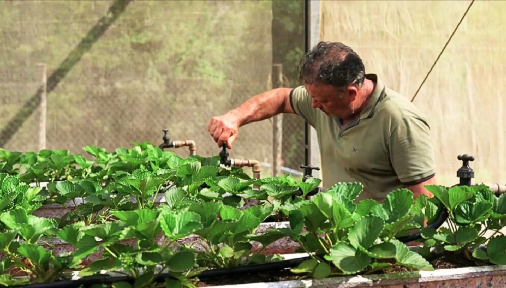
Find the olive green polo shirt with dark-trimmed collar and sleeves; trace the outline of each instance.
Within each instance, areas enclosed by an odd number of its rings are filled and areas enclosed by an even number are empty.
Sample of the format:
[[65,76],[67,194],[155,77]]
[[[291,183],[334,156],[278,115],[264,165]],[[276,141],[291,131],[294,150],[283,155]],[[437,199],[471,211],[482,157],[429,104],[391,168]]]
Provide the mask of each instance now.
[[429,124],[407,98],[376,82],[365,108],[346,127],[340,119],[311,107],[304,86],[293,89],[290,104],[318,134],[323,187],[361,182],[361,199],[383,202],[397,188],[430,179],[435,173]]

